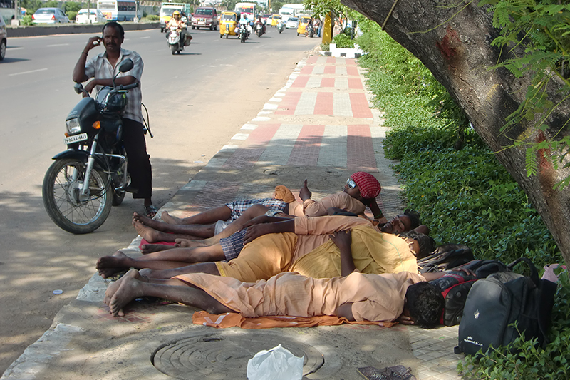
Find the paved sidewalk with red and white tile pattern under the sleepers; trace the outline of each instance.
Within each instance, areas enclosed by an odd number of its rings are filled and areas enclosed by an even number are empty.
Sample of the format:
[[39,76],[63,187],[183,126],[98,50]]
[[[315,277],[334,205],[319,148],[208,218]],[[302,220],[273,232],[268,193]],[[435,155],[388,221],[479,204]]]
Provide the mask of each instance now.
[[[355,60],[311,54],[161,211],[185,217],[235,199],[269,197],[276,185],[297,192],[304,178],[318,199],[364,170],[382,184],[384,215],[397,215],[405,207],[383,155],[386,128],[363,81]],[[123,251],[139,255],[139,243],[140,237]],[[362,379],[358,367],[397,364],[418,379],[458,377],[456,327],[213,329],[192,324],[190,307],[142,302],[113,318],[103,304],[107,285],[95,274],[1,379],[246,379],[247,360],[277,344],[305,354],[306,379]]]

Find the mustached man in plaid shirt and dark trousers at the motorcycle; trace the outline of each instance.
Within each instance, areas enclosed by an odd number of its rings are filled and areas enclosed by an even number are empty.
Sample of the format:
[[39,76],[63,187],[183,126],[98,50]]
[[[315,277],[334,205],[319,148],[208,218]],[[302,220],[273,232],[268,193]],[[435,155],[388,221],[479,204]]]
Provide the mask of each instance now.
[[[142,76],[142,58],[135,51],[121,48],[125,39],[125,31],[115,21],[110,21],[103,26],[102,37],[89,38],[83,48],[75,68],[73,68],[73,81],[81,83],[93,78],[85,89],[88,93],[97,87],[97,91],[104,86],[113,85],[119,63],[130,58],[134,67],[125,73],[119,73],[115,79],[117,85],[139,83],[137,88],[127,93],[127,107],[123,115],[123,140],[128,158],[128,172],[131,183],[129,188],[133,190],[133,198],[145,200],[145,215],[154,217],[156,207],[152,205],[152,166],[150,155],[147,154],[144,127],[142,125],[142,93],[140,92],[140,77]],[[87,56],[92,48],[103,43],[105,51],[87,61]]]

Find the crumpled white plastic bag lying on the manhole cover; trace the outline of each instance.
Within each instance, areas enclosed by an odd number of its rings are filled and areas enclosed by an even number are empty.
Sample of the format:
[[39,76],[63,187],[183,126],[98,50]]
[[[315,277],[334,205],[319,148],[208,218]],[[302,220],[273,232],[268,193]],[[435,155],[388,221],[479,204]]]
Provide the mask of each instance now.
[[303,359],[288,349],[276,346],[269,351],[259,351],[247,362],[248,380],[301,380]]

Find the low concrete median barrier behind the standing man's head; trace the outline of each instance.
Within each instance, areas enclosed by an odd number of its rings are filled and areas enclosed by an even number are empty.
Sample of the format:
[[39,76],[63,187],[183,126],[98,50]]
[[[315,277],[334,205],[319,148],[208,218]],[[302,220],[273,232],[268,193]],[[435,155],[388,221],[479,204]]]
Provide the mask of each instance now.
[[[125,22],[121,23],[125,31],[142,31],[146,29],[159,29],[160,23],[145,22],[134,23]],[[8,38],[14,37],[32,37],[32,36],[49,36],[51,34],[82,34],[93,33],[100,34],[103,24],[63,24],[63,25],[34,25],[34,26],[17,26],[6,29],[8,31]]]

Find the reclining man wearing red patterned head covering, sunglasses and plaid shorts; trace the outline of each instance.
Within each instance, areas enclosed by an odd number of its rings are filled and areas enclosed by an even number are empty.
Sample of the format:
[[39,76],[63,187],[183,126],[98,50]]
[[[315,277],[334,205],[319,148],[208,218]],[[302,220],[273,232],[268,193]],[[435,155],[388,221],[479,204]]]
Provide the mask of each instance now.
[[366,206],[368,206],[375,220],[386,222],[376,202],[380,189],[380,183],[373,175],[356,172],[346,181],[343,192],[328,195],[319,201],[311,200],[312,193],[307,188],[307,180],[304,180],[299,191],[302,204],[295,200],[289,189],[285,186],[278,186],[272,198],[235,201],[185,219],[177,219],[163,212],[162,219],[165,222],[160,222],[135,212],[133,225],[138,234],[150,243],[208,238],[217,235],[229,223],[237,220],[249,207],[259,204],[285,214],[309,217],[327,215],[327,210],[331,207],[337,207],[356,215],[364,215]]

